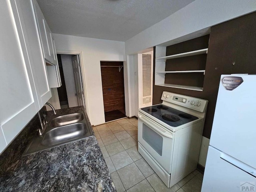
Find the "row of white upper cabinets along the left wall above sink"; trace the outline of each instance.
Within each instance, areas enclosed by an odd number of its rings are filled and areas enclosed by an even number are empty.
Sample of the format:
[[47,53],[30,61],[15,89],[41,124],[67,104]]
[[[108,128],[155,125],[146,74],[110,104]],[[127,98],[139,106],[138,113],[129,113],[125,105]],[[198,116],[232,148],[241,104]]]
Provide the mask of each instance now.
[[0,6],[0,153],[52,97],[50,79],[61,86],[52,33],[43,16],[40,33],[35,2],[3,0]]

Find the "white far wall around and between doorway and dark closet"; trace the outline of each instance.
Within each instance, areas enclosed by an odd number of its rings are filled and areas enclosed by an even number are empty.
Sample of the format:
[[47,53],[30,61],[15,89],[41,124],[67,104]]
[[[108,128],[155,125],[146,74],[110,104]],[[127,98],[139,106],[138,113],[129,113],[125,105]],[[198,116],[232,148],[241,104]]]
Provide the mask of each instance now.
[[[84,65],[84,74],[82,75],[85,77],[86,98],[88,100],[87,112],[89,113],[90,122],[92,125],[104,123],[100,61],[124,61],[124,42],[62,34],[53,34],[53,37],[57,53],[82,52],[80,60]],[[127,68],[124,67],[124,73],[127,73],[126,70]],[[127,84],[127,79],[124,80],[124,83]],[[128,97],[127,90],[125,91],[125,97]],[[126,113],[127,110],[129,110],[128,103],[126,103]]]

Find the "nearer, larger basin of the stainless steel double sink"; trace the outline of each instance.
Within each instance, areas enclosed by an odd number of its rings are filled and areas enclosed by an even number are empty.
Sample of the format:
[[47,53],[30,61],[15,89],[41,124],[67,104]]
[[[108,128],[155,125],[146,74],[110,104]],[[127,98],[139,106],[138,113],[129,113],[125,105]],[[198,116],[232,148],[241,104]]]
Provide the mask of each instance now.
[[83,123],[74,123],[61,127],[56,127],[44,134],[42,145],[53,146],[76,140],[84,137],[88,133],[88,128]]

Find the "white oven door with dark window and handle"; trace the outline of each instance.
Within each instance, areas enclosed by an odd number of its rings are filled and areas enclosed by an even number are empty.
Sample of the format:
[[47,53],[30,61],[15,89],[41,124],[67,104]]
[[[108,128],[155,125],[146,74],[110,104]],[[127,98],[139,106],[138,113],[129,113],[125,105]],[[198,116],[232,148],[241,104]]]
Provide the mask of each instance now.
[[172,168],[174,134],[138,113],[138,142],[168,173],[171,173]]

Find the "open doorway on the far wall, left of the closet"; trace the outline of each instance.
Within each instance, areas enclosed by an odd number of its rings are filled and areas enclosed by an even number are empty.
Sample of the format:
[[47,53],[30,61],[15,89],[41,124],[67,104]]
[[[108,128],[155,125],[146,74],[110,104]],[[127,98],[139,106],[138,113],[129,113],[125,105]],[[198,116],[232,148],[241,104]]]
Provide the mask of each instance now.
[[57,54],[62,86],[57,88],[60,108],[84,106],[79,55]]

